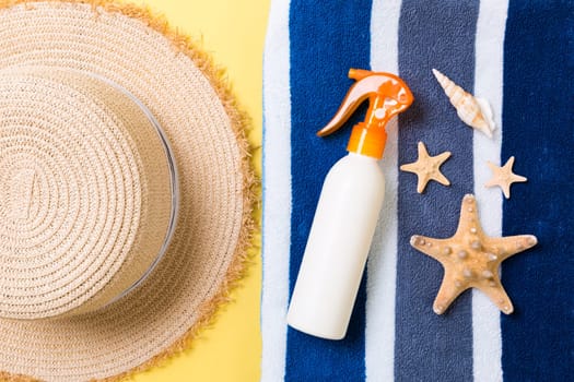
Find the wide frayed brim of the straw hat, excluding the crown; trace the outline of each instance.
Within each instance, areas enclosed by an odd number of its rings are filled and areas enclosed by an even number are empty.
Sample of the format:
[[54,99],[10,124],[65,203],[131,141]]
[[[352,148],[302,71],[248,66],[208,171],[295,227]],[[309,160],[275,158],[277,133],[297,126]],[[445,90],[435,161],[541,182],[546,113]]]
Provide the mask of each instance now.
[[112,80],[166,133],[180,206],[169,249],[128,296],[95,313],[0,320],[0,379],[117,379],[187,345],[245,265],[255,224],[248,123],[210,59],[167,23],[114,1],[0,1],[0,71],[43,65]]

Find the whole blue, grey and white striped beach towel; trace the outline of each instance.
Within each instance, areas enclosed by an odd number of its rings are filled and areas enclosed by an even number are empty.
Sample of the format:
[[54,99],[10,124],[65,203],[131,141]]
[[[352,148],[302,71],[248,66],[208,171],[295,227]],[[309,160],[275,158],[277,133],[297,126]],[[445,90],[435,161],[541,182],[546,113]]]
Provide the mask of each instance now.
[[[315,135],[350,68],[397,73],[415,102],[387,127],[386,200],[348,335],[333,342],[285,314],[323,180],[361,119]],[[494,139],[458,119],[432,68],[489,100]],[[574,381],[574,3],[272,0],[263,70],[262,381]],[[450,187],[418,194],[399,171],[419,141],[453,153]],[[484,188],[487,160],[511,156],[528,182],[505,200]],[[467,193],[488,235],[538,237],[503,262],[511,315],[477,290],[433,312],[443,268],[409,239],[454,235]]]

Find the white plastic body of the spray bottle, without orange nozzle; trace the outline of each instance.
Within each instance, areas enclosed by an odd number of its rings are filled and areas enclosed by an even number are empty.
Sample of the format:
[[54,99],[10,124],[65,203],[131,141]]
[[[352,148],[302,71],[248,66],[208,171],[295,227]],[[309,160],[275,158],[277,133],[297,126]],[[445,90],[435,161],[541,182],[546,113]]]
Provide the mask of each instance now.
[[349,153],[330,169],[293,290],[291,326],[344,337],[384,195],[375,158]]

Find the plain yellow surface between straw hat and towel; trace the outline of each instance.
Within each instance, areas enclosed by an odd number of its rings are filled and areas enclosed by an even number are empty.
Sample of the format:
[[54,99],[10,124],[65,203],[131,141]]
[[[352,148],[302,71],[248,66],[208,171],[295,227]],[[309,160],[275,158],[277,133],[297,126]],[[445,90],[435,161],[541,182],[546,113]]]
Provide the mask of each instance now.
[[[172,26],[202,40],[203,49],[227,69],[233,91],[250,115],[250,140],[261,144],[262,50],[269,0],[144,0],[167,16]],[[260,171],[260,150],[254,160]],[[212,327],[202,332],[192,348],[167,366],[137,374],[137,382],[244,382],[259,381],[261,335],[260,253],[233,302],[220,310]]]

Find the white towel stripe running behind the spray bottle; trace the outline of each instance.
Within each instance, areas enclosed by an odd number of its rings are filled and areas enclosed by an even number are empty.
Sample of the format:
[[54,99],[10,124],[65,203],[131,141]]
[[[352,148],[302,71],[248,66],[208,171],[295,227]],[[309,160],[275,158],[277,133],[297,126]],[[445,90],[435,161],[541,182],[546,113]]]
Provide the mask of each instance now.
[[[373,0],[371,68],[398,74],[400,0]],[[367,381],[395,379],[395,289],[397,272],[398,123],[387,126],[387,145],[380,162],[385,202],[367,265],[365,367]]]

